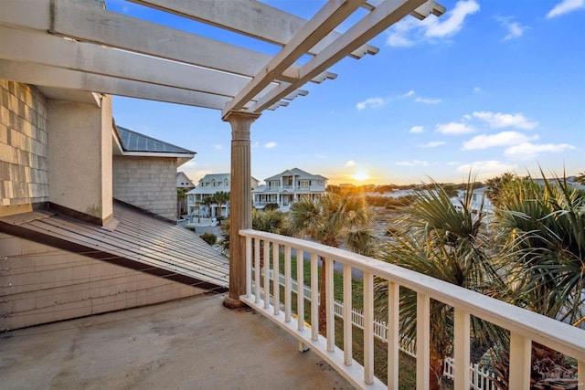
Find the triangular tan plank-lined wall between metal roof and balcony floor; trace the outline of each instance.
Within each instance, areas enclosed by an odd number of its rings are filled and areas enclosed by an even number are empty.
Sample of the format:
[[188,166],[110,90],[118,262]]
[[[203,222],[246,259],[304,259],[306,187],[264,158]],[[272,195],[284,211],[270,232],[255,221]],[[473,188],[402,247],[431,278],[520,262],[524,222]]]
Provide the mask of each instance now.
[[203,292],[3,233],[0,248],[0,331]]

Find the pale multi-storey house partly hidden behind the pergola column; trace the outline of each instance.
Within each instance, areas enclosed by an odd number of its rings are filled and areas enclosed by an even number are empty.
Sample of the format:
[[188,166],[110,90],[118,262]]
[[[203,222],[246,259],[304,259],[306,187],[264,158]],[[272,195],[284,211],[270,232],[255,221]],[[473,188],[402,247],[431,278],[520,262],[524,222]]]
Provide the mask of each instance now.
[[[251,189],[258,187],[259,181],[253,177],[250,178]],[[230,175],[229,174],[206,174],[201,179],[197,187],[186,193],[186,205],[189,216],[201,216],[204,218],[216,216],[229,216],[229,202],[221,205],[218,210],[218,204],[207,204],[207,199],[216,193],[222,191],[229,193]]]

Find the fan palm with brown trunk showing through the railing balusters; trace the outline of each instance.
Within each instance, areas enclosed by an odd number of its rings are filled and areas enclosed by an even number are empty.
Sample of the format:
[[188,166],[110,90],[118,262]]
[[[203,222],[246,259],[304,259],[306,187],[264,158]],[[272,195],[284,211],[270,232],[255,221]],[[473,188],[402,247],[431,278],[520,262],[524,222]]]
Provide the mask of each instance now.
[[[433,183],[415,190],[415,200],[405,208],[398,228],[390,230],[382,258],[401,267],[442,279],[464,288],[491,292],[499,278],[492,266],[491,254],[483,234],[482,206],[472,210],[473,180],[468,181],[465,196],[452,202],[450,194]],[[458,203],[458,204],[457,204]],[[388,283],[377,283],[375,301],[378,311],[388,315]],[[416,294],[401,290],[400,334],[416,338]],[[414,319],[414,320],[413,320]],[[452,308],[431,301],[431,388],[441,386],[442,362],[452,345]],[[497,337],[496,330],[473,319],[475,340],[486,343]],[[433,379],[434,378],[434,379]]]

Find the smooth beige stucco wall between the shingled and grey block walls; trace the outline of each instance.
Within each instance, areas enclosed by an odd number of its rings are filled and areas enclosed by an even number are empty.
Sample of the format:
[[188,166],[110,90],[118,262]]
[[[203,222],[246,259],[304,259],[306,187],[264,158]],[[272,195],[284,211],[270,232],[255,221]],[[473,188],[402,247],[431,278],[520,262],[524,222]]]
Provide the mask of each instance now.
[[49,201],[104,220],[112,216],[112,105],[48,100]]

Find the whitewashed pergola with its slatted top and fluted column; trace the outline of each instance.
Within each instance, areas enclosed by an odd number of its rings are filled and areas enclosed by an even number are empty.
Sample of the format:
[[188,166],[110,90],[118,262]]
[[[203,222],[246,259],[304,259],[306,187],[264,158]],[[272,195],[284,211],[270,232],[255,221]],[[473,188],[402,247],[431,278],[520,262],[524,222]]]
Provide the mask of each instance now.
[[[257,0],[130,1],[281,48],[270,56],[114,13],[101,0],[1,0],[0,79],[49,97],[83,90],[221,111],[232,128],[230,237],[250,228],[250,125],[262,111],[306,95],[307,82],[335,79],[327,69],[340,59],[376,54],[367,42],[403,17],[445,11],[432,0],[329,0],[304,20]],[[232,309],[245,290],[243,244],[230,242]]]

